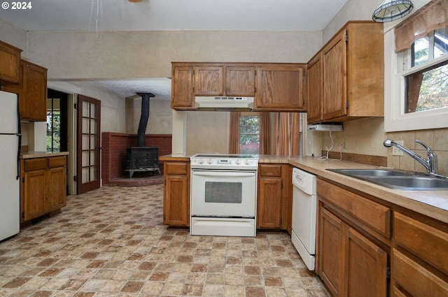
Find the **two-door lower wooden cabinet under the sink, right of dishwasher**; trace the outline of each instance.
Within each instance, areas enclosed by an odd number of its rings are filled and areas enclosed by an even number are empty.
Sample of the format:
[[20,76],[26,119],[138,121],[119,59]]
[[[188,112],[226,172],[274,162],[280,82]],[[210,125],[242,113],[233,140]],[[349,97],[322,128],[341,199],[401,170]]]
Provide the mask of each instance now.
[[[388,254],[363,234],[368,226],[381,226],[390,235],[390,209],[323,180],[318,180],[319,220],[317,273],[333,297],[388,295]],[[367,209],[368,206],[368,209]],[[385,228],[383,228],[385,226]],[[382,235],[382,234],[381,234]],[[368,236],[368,238],[367,238]],[[384,239],[385,241],[387,240]]]

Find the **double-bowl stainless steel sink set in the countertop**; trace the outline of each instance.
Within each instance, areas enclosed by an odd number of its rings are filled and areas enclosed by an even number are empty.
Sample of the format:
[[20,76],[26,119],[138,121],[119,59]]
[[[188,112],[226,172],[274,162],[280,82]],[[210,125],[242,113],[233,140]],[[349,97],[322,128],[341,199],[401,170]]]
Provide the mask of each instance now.
[[412,171],[396,169],[327,169],[335,173],[358,178],[390,189],[402,190],[445,190],[448,191],[448,178]]

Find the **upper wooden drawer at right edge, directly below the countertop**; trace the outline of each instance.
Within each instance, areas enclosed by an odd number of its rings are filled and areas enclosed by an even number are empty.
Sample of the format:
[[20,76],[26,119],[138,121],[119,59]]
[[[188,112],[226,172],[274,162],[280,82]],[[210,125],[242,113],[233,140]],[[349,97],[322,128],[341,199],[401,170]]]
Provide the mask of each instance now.
[[393,214],[393,226],[398,245],[448,274],[448,233],[398,212]]

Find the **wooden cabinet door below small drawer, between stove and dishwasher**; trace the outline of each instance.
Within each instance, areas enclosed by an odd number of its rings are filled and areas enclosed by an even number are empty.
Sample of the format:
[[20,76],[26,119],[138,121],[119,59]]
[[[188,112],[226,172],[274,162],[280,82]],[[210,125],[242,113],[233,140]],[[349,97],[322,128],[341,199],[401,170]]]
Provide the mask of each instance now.
[[281,186],[281,177],[260,177],[257,204],[258,229],[280,229]]

